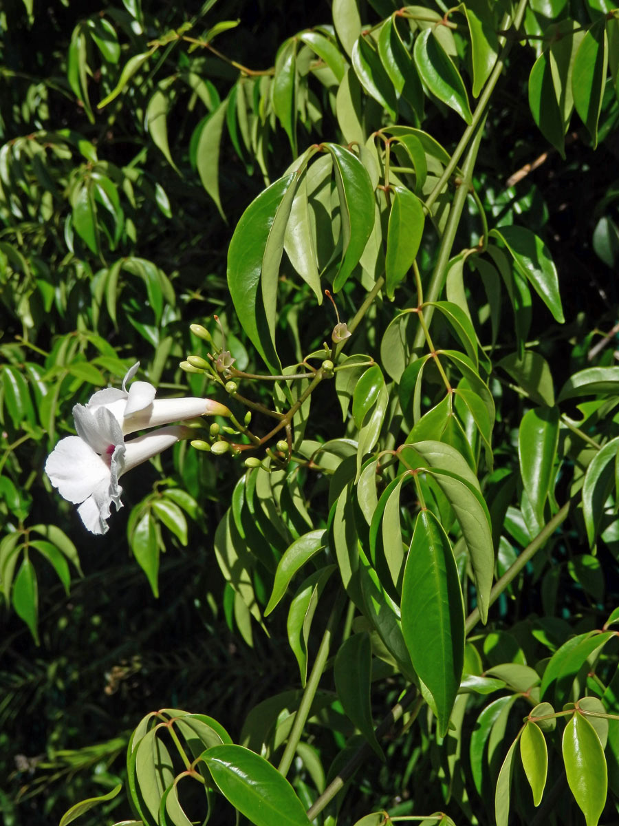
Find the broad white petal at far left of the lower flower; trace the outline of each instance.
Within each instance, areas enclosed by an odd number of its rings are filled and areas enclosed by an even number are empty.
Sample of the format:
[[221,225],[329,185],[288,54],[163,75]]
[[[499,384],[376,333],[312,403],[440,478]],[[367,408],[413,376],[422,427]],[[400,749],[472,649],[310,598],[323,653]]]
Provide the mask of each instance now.
[[110,485],[110,468],[83,439],[65,436],[47,457],[45,472],[60,496],[76,505],[105,483]]

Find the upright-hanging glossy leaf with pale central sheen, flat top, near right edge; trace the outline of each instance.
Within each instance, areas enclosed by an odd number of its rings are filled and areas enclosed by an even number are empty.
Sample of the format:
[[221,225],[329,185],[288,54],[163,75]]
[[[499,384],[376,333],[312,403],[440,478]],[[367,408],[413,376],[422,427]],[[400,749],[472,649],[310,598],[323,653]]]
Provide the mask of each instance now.
[[518,459],[522,484],[540,523],[550,491],[559,444],[559,411],[538,407],[528,411],[518,430]]

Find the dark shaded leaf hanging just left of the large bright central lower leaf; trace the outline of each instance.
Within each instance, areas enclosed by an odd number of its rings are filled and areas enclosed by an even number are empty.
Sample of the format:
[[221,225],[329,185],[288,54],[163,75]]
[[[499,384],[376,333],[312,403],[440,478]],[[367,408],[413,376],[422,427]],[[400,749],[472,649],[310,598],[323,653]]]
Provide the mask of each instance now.
[[380,760],[385,760],[374,733],[371,714],[371,644],[369,634],[353,634],[340,647],[333,663],[333,679],[344,711]]

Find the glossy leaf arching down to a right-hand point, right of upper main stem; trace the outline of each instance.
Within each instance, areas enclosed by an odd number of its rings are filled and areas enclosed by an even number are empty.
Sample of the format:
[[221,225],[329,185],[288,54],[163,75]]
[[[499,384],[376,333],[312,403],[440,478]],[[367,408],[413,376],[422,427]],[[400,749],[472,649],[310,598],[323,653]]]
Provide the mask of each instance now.
[[518,271],[532,283],[554,319],[563,324],[559,278],[546,244],[524,226],[502,226],[499,230],[490,230],[489,235],[503,240]]

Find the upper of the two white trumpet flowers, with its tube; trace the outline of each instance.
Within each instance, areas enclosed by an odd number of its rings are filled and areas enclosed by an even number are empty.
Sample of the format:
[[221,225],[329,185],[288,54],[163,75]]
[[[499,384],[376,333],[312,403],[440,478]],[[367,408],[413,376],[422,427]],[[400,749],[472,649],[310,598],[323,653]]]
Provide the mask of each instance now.
[[[105,408],[114,416],[122,433],[126,436],[135,430],[145,430],[158,425],[168,425],[172,421],[194,419],[199,415],[229,416],[230,411],[219,401],[201,398],[157,399],[157,392],[149,382],[133,382],[127,391],[127,382],[138,372],[139,362],[135,363],[125,375],[122,390],[107,387],[99,390],[86,405],[92,413]],[[73,415],[77,408],[73,408]],[[77,425],[76,425],[77,426]]]

